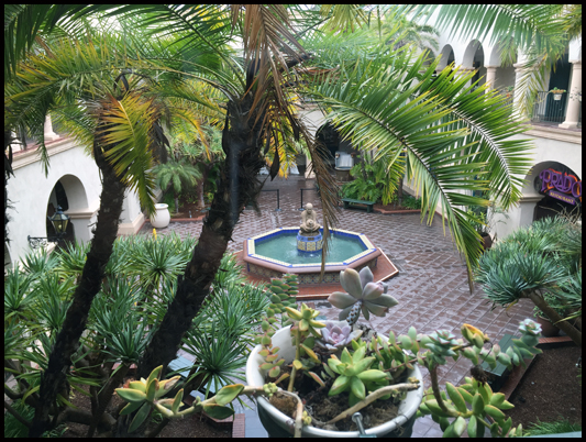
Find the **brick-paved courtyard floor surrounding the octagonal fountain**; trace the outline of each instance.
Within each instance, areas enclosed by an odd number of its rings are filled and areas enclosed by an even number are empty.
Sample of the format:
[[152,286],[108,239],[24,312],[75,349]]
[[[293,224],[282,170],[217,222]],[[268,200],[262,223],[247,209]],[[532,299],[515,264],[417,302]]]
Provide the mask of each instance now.
[[[280,212],[275,212],[276,192],[262,192],[257,214],[245,210],[234,231],[234,242],[229,250],[239,251],[245,239],[275,228],[299,225],[301,188],[314,188],[314,180],[289,177],[288,180],[276,178],[267,180],[265,189],[280,190]],[[303,201],[312,202],[317,208],[318,220],[321,221],[321,203],[314,191],[305,191]],[[157,234],[175,231],[180,235],[198,235],[201,221],[191,223],[172,222],[167,229]],[[490,311],[490,303],[483,299],[479,288],[471,295],[466,280],[466,268],[460,254],[447,236],[443,235],[441,219],[436,216],[431,226],[420,222],[419,214],[384,216],[366,213],[366,211],[341,210],[341,229],[365,233],[368,239],[387,254],[399,268],[399,275],[389,280],[389,292],[397,298],[399,305],[394,307],[385,318],[371,317],[371,327],[378,332],[396,334],[407,333],[414,325],[418,332],[430,333],[434,330],[451,330],[460,336],[460,325],[472,323],[485,331],[494,342],[498,342],[505,333],[517,333],[519,322],[532,317],[532,303],[522,300],[505,312],[497,307]],[[141,233],[152,232],[146,223]],[[316,302],[322,314],[329,319],[338,319],[338,309],[327,302]],[[364,318],[361,318],[364,320]],[[439,367],[441,382],[458,385],[464,376],[469,375],[472,363],[468,360],[453,361]],[[425,374],[425,388],[429,387],[429,374]],[[246,417],[248,419],[248,415]],[[248,428],[248,422],[246,424]],[[439,426],[428,417],[419,419],[413,429],[413,437],[441,437]],[[251,437],[253,433],[246,437]],[[254,432],[254,435],[261,435]]]

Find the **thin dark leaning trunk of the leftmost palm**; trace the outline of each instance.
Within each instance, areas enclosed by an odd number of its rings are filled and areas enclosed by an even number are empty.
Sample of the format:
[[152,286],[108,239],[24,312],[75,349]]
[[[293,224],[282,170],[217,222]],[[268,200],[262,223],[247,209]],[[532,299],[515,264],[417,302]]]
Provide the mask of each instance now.
[[112,254],[118,233],[118,222],[124,201],[124,185],[117,177],[112,166],[103,158],[101,147],[95,142],[96,163],[102,173],[102,191],[98,223],[88,252],[80,284],[74,294],[74,301],[67,310],[63,328],[51,352],[47,369],[41,379],[40,401],[35,410],[30,437],[41,437],[49,423],[48,410],[57,394],[67,387],[66,373],[71,364],[79,338],[86,329],[91,301],[100,291],[106,264]]

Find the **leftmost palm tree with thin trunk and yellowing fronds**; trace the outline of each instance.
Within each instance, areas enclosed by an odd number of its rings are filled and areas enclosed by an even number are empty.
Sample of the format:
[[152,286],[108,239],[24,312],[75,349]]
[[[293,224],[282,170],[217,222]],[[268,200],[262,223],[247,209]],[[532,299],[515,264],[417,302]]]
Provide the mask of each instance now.
[[[96,45],[101,46],[100,51]],[[159,148],[158,144],[164,142],[161,131],[155,129],[161,106],[143,97],[146,84],[143,76],[112,73],[111,66],[120,63],[120,58],[108,52],[108,45],[112,42],[56,41],[46,46],[45,53],[29,55],[4,87],[10,109],[5,121],[10,125],[30,129],[43,146],[43,121],[52,110],[91,146],[102,175],[95,236],[42,378],[40,404],[43,406],[35,415],[35,422],[41,426],[33,426],[33,434],[43,431],[49,407],[65,388],[63,367],[70,364],[91,301],[100,290],[118,234],[124,191],[137,189],[142,205],[150,212],[154,209],[154,178],[147,170],[152,168],[155,147]],[[46,153],[45,159],[48,159]]]

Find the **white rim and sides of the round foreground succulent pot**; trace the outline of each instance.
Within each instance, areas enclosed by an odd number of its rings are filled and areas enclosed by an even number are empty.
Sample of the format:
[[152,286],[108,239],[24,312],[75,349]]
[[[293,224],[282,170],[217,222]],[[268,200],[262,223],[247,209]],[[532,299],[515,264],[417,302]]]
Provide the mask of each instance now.
[[[290,364],[295,358],[295,346],[291,345],[291,338],[289,334],[289,327],[278,330],[272,338],[273,346],[278,346],[279,356],[285,358],[286,363]],[[258,354],[262,350],[261,345],[256,345],[248,356],[246,362],[246,383],[250,386],[263,386],[266,371],[262,371],[258,366],[265,362],[263,356]],[[423,377],[419,367],[416,365],[414,369],[409,373],[409,376],[414,376],[419,379],[420,385],[417,390],[408,391],[407,398],[399,406],[399,416],[391,421],[371,428],[366,430],[366,434],[375,434],[377,438],[390,437],[392,431],[402,427],[406,431],[405,437],[411,434],[412,422],[414,421],[414,415],[421,404],[423,397]],[[287,382],[285,382],[287,383]],[[263,426],[272,437],[291,437],[292,435],[292,422],[294,420],[287,415],[273,407],[264,397],[258,398],[258,416]],[[401,433],[401,431],[399,431]],[[303,438],[357,438],[357,431],[330,431],[322,430],[316,427],[303,426]]]

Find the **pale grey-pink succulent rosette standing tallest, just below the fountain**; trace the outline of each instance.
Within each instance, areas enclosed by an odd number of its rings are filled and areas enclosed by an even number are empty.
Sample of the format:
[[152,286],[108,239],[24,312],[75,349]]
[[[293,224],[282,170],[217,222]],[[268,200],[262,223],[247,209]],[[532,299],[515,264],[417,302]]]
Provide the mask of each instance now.
[[340,283],[347,292],[334,291],[328,301],[341,309],[339,319],[347,319],[347,323],[353,325],[358,320],[360,312],[368,320],[371,313],[384,317],[388,308],[394,307],[398,301],[390,295],[386,295],[388,286],[384,283],[375,283],[373,273],[368,267],[364,267],[361,273],[353,268],[340,272]]

